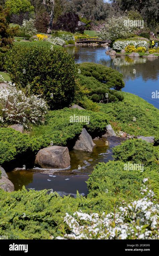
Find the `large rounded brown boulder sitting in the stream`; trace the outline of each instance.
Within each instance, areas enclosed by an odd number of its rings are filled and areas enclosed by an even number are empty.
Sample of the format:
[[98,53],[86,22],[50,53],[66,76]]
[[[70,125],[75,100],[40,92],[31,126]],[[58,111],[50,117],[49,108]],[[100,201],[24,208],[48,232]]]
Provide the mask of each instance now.
[[41,149],[36,155],[35,164],[47,169],[64,169],[70,165],[67,147],[51,146]]

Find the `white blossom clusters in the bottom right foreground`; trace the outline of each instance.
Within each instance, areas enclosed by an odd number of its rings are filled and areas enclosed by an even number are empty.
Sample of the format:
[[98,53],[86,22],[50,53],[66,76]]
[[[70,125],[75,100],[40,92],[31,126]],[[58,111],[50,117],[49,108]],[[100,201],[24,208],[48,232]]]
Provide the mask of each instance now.
[[64,222],[71,232],[56,239],[154,239],[153,234],[158,232],[159,205],[152,190],[146,187],[141,191],[147,192],[144,198],[128,205],[123,202],[116,213],[99,215],[80,211],[73,216],[67,213]]

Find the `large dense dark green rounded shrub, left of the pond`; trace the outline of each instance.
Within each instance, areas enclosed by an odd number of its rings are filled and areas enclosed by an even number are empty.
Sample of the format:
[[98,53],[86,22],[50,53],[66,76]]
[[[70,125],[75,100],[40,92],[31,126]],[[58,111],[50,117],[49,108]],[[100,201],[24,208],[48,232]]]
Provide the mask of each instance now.
[[31,93],[42,95],[51,109],[73,101],[76,65],[63,49],[15,45],[7,56],[6,68],[13,83],[20,88],[29,84]]

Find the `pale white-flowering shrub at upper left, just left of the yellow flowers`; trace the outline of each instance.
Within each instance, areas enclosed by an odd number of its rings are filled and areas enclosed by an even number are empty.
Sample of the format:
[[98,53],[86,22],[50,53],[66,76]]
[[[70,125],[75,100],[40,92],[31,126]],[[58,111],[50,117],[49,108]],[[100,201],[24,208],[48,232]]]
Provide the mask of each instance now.
[[29,21],[23,20],[21,25],[21,31],[24,33],[24,36],[30,38],[33,35],[38,33],[37,29],[35,28],[35,20],[30,19]]

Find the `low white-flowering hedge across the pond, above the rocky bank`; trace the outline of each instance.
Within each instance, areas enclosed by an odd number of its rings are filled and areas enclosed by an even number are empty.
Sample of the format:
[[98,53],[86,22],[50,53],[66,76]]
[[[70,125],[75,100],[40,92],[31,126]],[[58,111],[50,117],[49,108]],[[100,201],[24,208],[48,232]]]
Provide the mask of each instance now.
[[127,41],[116,41],[113,43],[113,49],[115,51],[124,50],[127,45],[134,45],[135,47],[145,47],[148,50],[148,43],[144,40],[127,40]]

